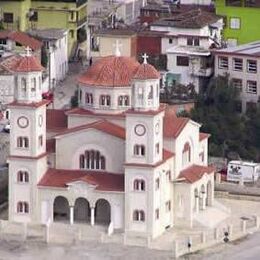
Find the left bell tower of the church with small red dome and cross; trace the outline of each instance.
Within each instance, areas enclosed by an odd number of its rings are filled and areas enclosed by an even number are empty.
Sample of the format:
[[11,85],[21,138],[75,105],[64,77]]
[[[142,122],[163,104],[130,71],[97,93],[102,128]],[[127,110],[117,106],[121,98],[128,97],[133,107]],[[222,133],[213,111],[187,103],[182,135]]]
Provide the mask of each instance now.
[[9,220],[37,221],[37,184],[47,170],[46,101],[42,100],[39,60],[26,48],[15,64],[14,102],[9,104]]

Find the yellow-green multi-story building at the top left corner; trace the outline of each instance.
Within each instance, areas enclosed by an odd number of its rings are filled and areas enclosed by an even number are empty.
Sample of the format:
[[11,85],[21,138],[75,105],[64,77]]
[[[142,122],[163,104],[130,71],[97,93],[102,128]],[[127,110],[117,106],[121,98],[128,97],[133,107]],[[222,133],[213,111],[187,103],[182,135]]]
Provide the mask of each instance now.
[[69,31],[68,55],[77,53],[79,31],[87,24],[87,1],[0,1],[2,23],[6,29],[60,28]]

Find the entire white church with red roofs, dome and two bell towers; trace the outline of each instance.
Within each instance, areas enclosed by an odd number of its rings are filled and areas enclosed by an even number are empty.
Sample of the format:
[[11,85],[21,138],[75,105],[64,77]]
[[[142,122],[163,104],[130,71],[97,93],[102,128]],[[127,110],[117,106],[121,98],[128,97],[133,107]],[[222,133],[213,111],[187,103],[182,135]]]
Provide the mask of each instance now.
[[[20,63],[9,105],[10,221],[111,225],[155,238],[192,227],[211,207],[209,135],[160,104],[160,74],[146,55],[142,64],[119,52],[95,62],[78,78],[79,107],[66,112],[46,111],[36,58]],[[66,128],[48,130],[62,114]]]

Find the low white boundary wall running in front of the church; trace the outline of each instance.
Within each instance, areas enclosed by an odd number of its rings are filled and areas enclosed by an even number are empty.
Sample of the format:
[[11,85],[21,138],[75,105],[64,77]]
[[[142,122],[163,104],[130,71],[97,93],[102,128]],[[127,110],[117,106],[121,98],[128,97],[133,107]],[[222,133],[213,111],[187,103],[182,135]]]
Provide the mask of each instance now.
[[[220,226],[215,229],[193,233],[191,235],[180,235],[172,238],[169,247],[174,257],[192,253],[218,243],[236,240],[259,229],[260,218],[253,216],[244,218],[232,225]],[[0,239],[5,240],[33,240],[55,243],[76,243],[80,241],[95,240],[98,242],[114,242],[119,244],[136,245],[156,248],[156,245],[147,237],[128,237],[114,234],[106,235],[106,229],[101,226],[91,227],[89,225],[69,225],[65,223],[52,223],[51,225],[40,225],[32,223],[17,223],[0,220]],[[112,240],[111,240],[112,239]],[[156,248],[159,249],[159,248]],[[161,248],[161,250],[163,250]]]

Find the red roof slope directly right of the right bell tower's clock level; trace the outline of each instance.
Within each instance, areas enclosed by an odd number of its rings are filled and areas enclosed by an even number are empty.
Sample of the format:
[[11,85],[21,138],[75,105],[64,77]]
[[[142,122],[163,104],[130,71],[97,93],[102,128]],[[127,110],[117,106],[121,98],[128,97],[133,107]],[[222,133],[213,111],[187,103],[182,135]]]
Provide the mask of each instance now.
[[166,110],[163,119],[163,135],[165,137],[177,138],[188,122],[189,118],[176,117],[175,113],[172,110]]

